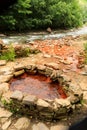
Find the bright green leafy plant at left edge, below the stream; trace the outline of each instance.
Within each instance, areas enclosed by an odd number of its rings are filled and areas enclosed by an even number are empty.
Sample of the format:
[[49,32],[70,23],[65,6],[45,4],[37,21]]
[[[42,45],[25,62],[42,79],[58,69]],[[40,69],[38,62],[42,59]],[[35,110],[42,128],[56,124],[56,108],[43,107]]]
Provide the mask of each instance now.
[[14,61],[14,59],[15,59],[15,50],[11,44],[9,48],[1,54],[0,60]]

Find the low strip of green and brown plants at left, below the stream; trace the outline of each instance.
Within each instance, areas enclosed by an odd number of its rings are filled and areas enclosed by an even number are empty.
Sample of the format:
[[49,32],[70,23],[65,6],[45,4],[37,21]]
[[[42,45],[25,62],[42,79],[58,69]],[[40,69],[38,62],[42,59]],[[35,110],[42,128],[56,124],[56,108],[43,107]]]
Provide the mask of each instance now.
[[0,53],[0,60],[14,61],[15,58],[28,57],[30,54],[37,54],[39,52],[38,49],[30,49],[29,47],[19,46],[18,48],[14,48],[10,44],[8,49],[4,49]]

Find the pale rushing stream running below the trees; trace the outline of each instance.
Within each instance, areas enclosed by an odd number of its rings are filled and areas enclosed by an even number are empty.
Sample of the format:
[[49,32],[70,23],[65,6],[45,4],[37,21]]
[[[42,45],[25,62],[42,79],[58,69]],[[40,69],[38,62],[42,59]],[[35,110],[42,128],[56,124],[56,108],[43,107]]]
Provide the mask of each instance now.
[[11,35],[1,35],[0,38],[3,40],[5,44],[9,43],[27,43],[31,42],[33,40],[37,39],[58,39],[66,36],[79,36],[87,34],[87,26],[84,26],[79,29],[71,29],[71,30],[58,30],[58,31],[52,31],[52,33],[47,33],[47,32],[29,32],[29,33],[20,33],[20,34],[11,34]]

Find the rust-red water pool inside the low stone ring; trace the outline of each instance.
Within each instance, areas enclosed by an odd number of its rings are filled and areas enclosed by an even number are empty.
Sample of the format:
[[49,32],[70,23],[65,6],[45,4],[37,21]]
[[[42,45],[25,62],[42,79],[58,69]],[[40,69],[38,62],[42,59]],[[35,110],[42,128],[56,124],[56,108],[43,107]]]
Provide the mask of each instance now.
[[36,95],[42,99],[66,98],[67,95],[58,81],[53,82],[50,77],[41,74],[29,75],[24,73],[21,76],[10,80],[10,90],[20,90],[23,93]]

